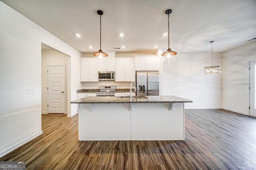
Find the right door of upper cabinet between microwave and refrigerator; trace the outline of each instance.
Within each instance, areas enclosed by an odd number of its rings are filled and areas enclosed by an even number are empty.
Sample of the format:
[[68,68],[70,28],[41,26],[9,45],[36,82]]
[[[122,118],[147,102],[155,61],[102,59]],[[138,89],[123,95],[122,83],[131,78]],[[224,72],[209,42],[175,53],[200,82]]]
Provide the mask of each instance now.
[[134,59],[124,59],[124,68],[125,68],[125,81],[132,82],[134,78]]

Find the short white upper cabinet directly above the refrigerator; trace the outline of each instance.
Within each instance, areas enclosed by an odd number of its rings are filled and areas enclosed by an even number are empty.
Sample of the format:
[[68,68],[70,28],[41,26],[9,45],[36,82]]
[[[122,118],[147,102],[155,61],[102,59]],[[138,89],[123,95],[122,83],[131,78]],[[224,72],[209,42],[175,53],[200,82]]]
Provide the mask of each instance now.
[[136,71],[158,70],[158,58],[156,56],[134,56]]

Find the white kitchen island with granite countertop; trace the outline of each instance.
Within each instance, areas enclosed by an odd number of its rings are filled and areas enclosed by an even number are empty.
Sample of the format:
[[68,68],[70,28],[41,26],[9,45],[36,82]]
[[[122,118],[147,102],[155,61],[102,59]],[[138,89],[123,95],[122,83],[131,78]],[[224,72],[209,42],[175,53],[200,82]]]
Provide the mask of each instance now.
[[184,140],[184,103],[176,96],[86,97],[78,104],[79,141]]

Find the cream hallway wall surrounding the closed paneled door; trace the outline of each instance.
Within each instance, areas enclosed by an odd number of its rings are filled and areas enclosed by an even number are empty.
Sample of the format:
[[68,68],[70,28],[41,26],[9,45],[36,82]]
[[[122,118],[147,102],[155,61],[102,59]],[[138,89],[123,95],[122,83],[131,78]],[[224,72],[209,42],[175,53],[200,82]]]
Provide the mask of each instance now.
[[47,95],[47,66],[48,65],[65,65],[66,67],[66,90],[65,90],[65,98],[66,98],[66,112],[68,112],[68,66],[70,65],[70,57],[59,53],[55,50],[42,50],[42,113],[47,113],[47,103],[46,103],[46,95]]

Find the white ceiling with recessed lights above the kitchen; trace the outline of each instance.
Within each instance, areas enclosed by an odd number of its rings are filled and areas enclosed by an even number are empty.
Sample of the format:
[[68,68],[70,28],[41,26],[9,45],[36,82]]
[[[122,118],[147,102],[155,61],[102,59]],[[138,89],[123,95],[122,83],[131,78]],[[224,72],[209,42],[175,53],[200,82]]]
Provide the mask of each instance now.
[[[167,49],[168,36],[162,33],[168,32],[168,8],[172,9],[170,47],[178,53],[209,52],[211,40],[215,41],[214,51],[223,52],[256,37],[256,0],[1,1],[82,53],[99,49],[97,10],[104,12],[103,51],[154,53],[158,48]],[[124,37],[119,37],[120,32]],[[76,37],[76,33],[82,36]]]

